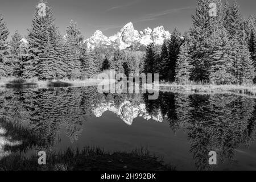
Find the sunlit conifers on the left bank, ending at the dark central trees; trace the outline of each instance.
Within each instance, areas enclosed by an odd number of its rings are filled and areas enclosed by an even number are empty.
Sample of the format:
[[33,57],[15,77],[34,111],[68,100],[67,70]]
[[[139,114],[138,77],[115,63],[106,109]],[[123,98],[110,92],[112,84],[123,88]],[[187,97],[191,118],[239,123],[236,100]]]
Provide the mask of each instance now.
[[18,31],[7,41],[9,30],[0,15],[0,77],[74,80],[92,78],[104,69],[139,72],[142,52],[87,48],[76,22],[71,20],[61,36],[54,20],[51,7],[46,6],[46,16],[36,7],[25,44]]

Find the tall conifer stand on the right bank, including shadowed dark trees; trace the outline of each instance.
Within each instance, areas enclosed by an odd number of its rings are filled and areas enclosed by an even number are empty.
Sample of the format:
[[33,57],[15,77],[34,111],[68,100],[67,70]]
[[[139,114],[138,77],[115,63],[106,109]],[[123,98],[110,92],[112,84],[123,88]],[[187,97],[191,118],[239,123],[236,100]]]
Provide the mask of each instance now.
[[[209,16],[209,4],[217,16]],[[145,73],[160,73],[170,82],[253,84],[256,81],[256,19],[243,19],[237,2],[198,0],[192,26],[182,36],[175,28],[159,48],[151,43],[144,60]]]

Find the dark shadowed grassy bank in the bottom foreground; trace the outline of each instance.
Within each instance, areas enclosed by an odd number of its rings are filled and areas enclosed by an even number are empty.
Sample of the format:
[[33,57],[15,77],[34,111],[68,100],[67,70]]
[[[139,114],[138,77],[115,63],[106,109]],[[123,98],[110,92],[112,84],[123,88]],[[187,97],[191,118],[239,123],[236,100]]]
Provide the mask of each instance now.
[[68,148],[59,153],[47,154],[46,165],[38,164],[39,156],[10,155],[0,160],[0,170],[14,171],[168,171],[175,167],[151,155],[145,149],[131,152],[105,152],[101,148],[85,147],[83,150]]

